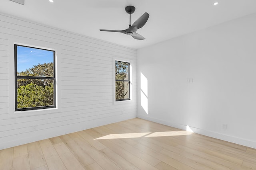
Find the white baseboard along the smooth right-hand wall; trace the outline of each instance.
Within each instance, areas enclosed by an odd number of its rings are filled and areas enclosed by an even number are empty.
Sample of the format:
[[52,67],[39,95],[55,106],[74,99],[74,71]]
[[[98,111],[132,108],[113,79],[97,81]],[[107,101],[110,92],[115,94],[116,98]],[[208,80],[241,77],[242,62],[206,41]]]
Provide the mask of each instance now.
[[[156,119],[156,118],[152,118],[152,117],[148,117],[148,116],[142,116],[142,115],[137,115],[137,117],[141,118],[141,119],[148,120],[148,121],[153,121],[153,122],[156,122],[156,123],[160,123],[160,124],[163,124],[163,125],[175,127],[175,128],[178,128],[178,129],[186,130],[186,125],[181,125],[181,124],[178,124],[178,123],[164,121],[164,120],[161,120],[161,119]],[[213,131],[206,131],[204,129],[199,129],[199,128],[196,128],[196,127],[190,127],[190,129],[194,133],[198,133],[200,135],[205,135],[205,136],[208,136],[208,137],[213,137],[213,138],[220,139],[220,140],[223,140],[223,141],[228,141],[228,142],[231,142],[231,143],[236,143],[238,145],[243,145],[243,146],[246,146],[246,147],[256,149],[256,142],[254,142],[254,141],[249,141],[249,140],[238,138],[238,137],[224,135],[224,134],[216,133],[216,132],[213,132]]]

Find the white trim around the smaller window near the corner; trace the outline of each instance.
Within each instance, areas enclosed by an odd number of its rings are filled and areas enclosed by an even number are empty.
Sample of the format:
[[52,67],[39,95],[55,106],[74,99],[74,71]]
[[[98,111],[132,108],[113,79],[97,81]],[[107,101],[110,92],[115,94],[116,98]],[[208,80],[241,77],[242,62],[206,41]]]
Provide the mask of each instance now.
[[[121,101],[116,101],[116,61],[121,61],[121,62],[126,62],[126,63],[130,63],[130,70],[129,70],[129,74],[130,74],[130,100],[121,100]],[[129,59],[124,59],[124,58],[119,58],[119,57],[113,57],[113,76],[114,76],[114,81],[113,81],[113,102],[114,105],[116,104],[123,104],[123,103],[127,103],[127,102],[132,102],[133,100],[133,72],[132,72],[132,68],[133,68],[133,61],[129,60]]]

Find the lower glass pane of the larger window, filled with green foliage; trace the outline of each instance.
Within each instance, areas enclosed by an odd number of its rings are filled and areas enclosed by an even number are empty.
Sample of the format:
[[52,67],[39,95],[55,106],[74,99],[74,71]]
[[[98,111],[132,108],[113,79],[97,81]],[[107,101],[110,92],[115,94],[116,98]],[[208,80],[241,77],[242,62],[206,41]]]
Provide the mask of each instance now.
[[18,79],[17,108],[53,106],[54,80]]

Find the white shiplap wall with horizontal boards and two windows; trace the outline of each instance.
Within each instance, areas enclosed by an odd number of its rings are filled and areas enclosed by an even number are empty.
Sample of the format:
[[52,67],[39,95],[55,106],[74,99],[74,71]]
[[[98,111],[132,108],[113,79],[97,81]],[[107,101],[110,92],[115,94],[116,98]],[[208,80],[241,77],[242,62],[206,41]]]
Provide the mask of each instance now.
[[[10,117],[10,37],[60,47],[58,113]],[[113,102],[115,57],[132,61],[132,101]],[[136,117],[136,72],[134,49],[0,13],[0,149]]]

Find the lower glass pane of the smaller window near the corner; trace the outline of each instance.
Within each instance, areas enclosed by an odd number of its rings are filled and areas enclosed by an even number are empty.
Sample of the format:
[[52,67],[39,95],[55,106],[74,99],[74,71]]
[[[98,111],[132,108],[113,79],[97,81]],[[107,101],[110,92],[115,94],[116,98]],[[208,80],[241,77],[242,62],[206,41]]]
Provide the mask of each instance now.
[[129,82],[116,82],[116,100],[130,99]]

